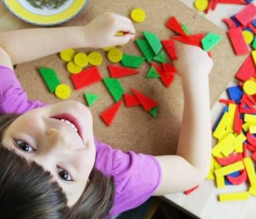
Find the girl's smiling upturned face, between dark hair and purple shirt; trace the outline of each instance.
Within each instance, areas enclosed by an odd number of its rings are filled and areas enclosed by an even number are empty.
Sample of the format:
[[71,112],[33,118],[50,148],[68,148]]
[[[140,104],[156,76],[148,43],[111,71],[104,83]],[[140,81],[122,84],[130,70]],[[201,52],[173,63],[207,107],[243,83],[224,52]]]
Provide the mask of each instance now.
[[[73,121],[74,128],[53,118],[56,115],[66,120],[72,120],[72,115],[78,124]],[[48,170],[66,193],[69,207],[89,183],[96,157],[92,118],[89,109],[78,101],[61,101],[20,115],[4,130],[2,144]]]

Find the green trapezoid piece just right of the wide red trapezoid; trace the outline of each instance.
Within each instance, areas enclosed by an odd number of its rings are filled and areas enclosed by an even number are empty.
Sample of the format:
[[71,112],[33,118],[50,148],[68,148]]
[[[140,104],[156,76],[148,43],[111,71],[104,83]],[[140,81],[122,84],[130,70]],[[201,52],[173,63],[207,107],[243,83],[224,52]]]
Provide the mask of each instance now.
[[113,99],[117,102],[119,101],[124,95],[124,88],[122,87],[121,83],[116,78],[105,77],[103,78],[105,85],[110,91]]

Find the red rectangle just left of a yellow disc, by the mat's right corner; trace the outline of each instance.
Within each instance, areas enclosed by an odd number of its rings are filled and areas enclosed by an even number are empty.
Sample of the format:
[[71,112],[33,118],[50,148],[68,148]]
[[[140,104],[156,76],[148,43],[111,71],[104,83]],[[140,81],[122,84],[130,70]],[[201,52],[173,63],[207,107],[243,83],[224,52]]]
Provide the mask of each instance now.
[[246,44],[240,27],[229,29],[227,35],[230,38],[230,42],[236,55],[246,55],[249,53],[249,46]]

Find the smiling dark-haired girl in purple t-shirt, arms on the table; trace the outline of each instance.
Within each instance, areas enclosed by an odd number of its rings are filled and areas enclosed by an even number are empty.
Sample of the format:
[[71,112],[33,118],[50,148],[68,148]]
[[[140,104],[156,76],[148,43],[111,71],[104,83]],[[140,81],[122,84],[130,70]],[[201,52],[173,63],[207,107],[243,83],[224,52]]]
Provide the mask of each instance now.
[[[116,37],[118,31],[126,34]],[[45,104],[29,100],[13,72],[13,64],[69,47],[102,48],[126,44],[134,38],[131,20],[113,13],[101,15],[86,26],[0,33],[0,110],[5,114],[0,122],[1,143],[12,155],[23,159],[23,169],[30,164],[40,166],[52,177],[48,183],[59,185],[59,196],[63,192],[67,198],[69,213],[61,204],[59,209],[48,208],[48,212],[56,211],[56,215],[62,214],[60,217],[68,214],[68,218],[110,218],[137,207],[150,196],[192,188],[208,174],[208,74],[212,61],[199,47],[181,47],[175,62],[185,102],[177,155],[153,156],[130,150],[124,153],[97,141],[87,107],[78,101]],[[30,180],[35,179],[30,176]],[[26,203],[23,206],[26,208]]]

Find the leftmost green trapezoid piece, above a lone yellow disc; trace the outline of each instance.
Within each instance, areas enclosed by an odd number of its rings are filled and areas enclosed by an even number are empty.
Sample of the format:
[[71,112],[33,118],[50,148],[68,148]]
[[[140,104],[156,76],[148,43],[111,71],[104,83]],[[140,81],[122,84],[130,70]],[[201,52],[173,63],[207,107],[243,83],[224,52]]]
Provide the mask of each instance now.
[[59,78],[53,69],[39,68],[43,80],[45,81],[50,93],[55,91],[55,88],[60,84]]

